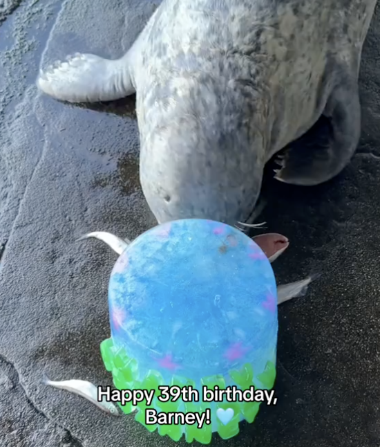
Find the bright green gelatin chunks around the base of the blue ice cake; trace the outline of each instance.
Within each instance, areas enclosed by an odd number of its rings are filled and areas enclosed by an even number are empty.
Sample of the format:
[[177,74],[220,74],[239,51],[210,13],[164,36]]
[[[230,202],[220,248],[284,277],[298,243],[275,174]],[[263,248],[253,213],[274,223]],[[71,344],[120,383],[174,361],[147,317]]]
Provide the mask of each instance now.
[[[184,402],[182,399],[176,401],[161,402],[157,399],[161,392],[158,389],[160,385],[178,385],[178,387],[185,387],[191,385],[193,389],[200,389],[197,387],[194,381],[182,376],[173,375],[171,383],[164,383],[162,375],[156,370],[149,370],[149,372],[143,377],[140,377],[137,361],[126,354],[124,349],[117,349],[113,345],[113,340],[107,338],[100,345],[100,352],[106,370],[113,375],[113,384],[117,390],[155,390],[154,399],[151,406],[146,405],[145,401],[137,404],[137,407],[133,407],[132,403],[126,403],[121,405],[120,408],[126,414],[136,411],[135,420],[142,423],[142,425],[153,432],[158,430],[158,433],[162,436],[168,435],[173,441],[179,441],[182,435],[185,435],[187,442],[198,441],[201,444],[209,444],[211,442],[211,436],[213,431],[218,432],[222,439],[229,439],[238,435],[239,422],[243,419],[249,423],[252,423],[258,414],[259,402]],[[276,378],[276,366],[272,361],[268,361],[265,370],[258,374],[257,379],[260,383],[254,381],[254,371],[250,363],[246,363],[240,370],[229,371],[229,377],[225,378],[222,375],[215,375],[202,378],[200,385],[206,385],[209,389],[213,389],[215,385],[218,385],[220,390],[230,385],[236,385],[240,390],[248,390],[251,385],[254,385],[255,389],[271,390]],[[227,381],[227,383],[226,383]],[[157,412],[205,412],[207,408],[211,410],[212,423],[204,423],[202,428],[198,428],[197,423],[193,425],[146,425],[145,423],[145,410],[147,408],[153,408]],[[224,425],[216,417],[216,411],[218,408],[232,408],[234,410],[234,417]]]

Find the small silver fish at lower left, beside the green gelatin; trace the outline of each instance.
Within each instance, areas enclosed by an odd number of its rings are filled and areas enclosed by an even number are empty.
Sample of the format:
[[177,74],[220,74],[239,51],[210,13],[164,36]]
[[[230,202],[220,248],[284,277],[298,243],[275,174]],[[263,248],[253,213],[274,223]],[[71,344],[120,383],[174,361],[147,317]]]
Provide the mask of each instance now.
[[80,381],[77,379],[55,382],[50,381],[46,374],[44,374],[43,381],[45,385],[50,385],[52,387],[59,388],[60,390],[66,390],[82,396],[88,401],[95,403],[98,408],[109,414],[113,414],[114,416],[121,416],[119,410],[117,410],[117,406],[114,405],[112,402],[105,401],[104,399],[101,402],[97,400],[97,387],[91,382]]

